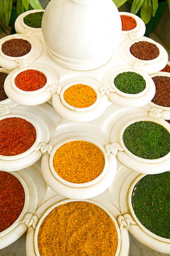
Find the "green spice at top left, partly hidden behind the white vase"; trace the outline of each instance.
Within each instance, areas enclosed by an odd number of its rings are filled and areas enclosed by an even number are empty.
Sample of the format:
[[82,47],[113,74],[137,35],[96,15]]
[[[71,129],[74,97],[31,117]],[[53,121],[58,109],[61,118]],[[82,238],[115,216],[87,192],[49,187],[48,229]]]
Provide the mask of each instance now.
[[23,22],[31,28],[41,28],[43,13],[44,12],[31,12],[29,15],[23,17]]

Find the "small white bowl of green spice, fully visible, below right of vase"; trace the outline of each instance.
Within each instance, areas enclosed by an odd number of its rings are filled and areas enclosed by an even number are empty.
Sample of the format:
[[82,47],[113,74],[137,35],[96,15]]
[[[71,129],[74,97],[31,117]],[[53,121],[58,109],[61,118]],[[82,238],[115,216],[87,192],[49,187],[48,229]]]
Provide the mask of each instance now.
[[131,66],[111,68],[103,79],[104,86],[110,85],[109,100],[121,107],[142,107],[155,95],[151,77]]

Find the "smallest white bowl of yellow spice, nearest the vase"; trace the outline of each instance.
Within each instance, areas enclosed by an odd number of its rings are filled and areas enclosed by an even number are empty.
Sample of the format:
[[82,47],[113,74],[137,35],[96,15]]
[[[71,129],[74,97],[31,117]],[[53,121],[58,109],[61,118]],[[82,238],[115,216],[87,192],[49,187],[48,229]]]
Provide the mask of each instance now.
[[105,88],[89,77],[59,82],[52,105],[59,115],[74,122],[88,122],[101,116],[108,104]]

